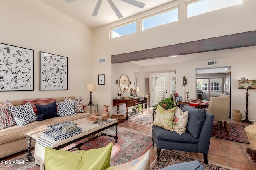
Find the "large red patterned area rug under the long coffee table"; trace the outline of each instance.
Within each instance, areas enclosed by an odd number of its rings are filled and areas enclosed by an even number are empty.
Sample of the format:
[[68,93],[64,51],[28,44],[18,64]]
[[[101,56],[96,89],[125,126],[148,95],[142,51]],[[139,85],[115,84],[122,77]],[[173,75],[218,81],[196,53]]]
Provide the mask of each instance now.
[[[110,166],[114,166],[134,160],[144,154],[152,146],[152,135],[118,127],[118,143],[115,143],[115,139],[112,137],[101,136],[84,144],[81,150],[104,147],[110,142],[113,143]],[[76,144],[73,143],[61,150],[71,148],[73,145]],[[34,155],[34,152],[32,154]],[[0,170],[40,170],[34,161],[27,162],[26,160],[26,154],[6,160],[6,164],[0,164]]]

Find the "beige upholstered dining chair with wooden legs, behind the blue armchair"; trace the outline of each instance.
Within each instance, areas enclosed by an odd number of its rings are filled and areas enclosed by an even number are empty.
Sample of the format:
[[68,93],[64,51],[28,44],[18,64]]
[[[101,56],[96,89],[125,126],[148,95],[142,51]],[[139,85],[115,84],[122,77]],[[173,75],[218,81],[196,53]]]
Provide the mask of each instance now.
[[207,112],[214,115],[214,121],[220,123],[220,130],[222,121],[224,121],[224,127],[228,132],[228,116],[230,111],[230,97],[210,97],[209,107]]

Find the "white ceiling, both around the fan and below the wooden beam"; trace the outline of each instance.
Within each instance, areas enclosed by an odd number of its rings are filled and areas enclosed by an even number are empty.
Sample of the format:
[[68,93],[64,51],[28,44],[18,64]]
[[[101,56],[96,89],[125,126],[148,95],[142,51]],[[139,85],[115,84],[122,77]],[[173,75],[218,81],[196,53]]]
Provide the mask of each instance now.
[[[158,6],[167,4],[174,0],[137,0],[139,2],[145,3],[143,9],[123,2],[121,0],[112,0],[118,10],[120,10],[121,14],[124,16],[123,18],[118,19],[110,5],[106,0],[102,1],[100,6],[98,15],[96,17],[92,16],[92,12],[98,0],[76,0],[74,2],[66,3],[64,0],[40,0],[41,2],[55,8],[56,10],[78,20],[92,29],[107,25],[109,23],[113,23],[118,20],[122,20],[124,18],[128,18],[135,14],[139,14],[146,10],[150,10],[152,8],[156,8]],[[174,64],[174,63],[182,63],[182,62],[194,62],[194,61],[202,61],[212,59],[217,60],[220,58],[226,57],[235,57],[235,56],[243,56],[247,54],[256,53],[256,46],[253,47],[244,47],[244,48],[236,48],[236,49],[227,49],[220,51],[212,51],[205,53],[196,53],[189,55],[180,55],[175,58],[158,58],[158,59],[150,59],[143,61],[133,61],[132,63],[138,64],[140,66],[152,66],[152,65],[162,65],[162,64]],[[206,65],[206,64],[205,64]],[[202,67],[205,67],[202,66]],[[168,70],[166,70],[168,71]]]

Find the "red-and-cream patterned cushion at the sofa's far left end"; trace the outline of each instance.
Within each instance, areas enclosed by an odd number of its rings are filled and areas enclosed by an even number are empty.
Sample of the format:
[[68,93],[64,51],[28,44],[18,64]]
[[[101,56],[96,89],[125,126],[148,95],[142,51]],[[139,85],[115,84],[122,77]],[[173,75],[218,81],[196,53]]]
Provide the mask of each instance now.
[[10,107],[14,106],[8,100],[0,104],[0,129],[16,125],[16,122],[12,117],[12,113],[9,111]]

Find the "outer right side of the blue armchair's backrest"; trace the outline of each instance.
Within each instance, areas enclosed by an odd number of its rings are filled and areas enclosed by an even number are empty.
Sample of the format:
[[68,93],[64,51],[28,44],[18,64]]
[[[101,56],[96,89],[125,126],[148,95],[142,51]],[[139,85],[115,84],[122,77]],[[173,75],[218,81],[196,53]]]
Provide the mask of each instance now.
[[206,118],[204,120],[201,133],[199,135],[198,142],[198,152],[208,154],[210,139],[212,134],[212,124],[213,124],[214,115],[206,113]]

